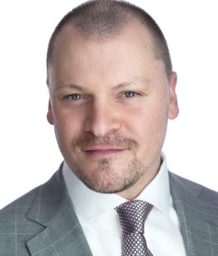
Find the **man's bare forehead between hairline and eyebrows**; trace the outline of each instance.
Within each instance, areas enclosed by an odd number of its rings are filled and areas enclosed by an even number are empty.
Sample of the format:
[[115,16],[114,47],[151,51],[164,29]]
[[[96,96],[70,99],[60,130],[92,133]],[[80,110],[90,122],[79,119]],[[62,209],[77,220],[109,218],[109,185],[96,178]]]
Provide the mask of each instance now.
[[148,29],[139,22],[130,22],[119,34],[104,40],[85,38],[68,25],[55,41],[49,76],[57,84],[63,80],[85,84],[94,78],[112,80],[111,84],[116,85],[119,83],[116,80],[123,82],[125,77],[132,80],[145,70],[152,73],[157,65],[164,66],[162,61],[155,59],[153,46]]

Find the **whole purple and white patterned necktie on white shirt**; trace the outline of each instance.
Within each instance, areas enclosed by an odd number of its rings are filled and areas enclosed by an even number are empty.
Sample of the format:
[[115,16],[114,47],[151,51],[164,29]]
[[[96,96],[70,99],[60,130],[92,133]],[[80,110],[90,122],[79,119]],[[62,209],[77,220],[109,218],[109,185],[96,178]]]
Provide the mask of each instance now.
[[152,256],[145,236],[145,220],[153,205],[143,200],[133,200],[115,208],[122,228],[122,254],[121,256]]

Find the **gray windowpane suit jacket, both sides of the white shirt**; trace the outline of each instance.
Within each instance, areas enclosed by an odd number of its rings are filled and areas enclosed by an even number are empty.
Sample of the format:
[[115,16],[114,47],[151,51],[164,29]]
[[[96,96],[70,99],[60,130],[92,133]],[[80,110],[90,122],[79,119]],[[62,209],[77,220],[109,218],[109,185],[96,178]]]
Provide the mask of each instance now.
[[[217,256],[218,193],[171,172],[169,179],[187,256]],[[0,211],[0,256],[26,255],[92,255],[66,190],[62,166],[50,181]]]

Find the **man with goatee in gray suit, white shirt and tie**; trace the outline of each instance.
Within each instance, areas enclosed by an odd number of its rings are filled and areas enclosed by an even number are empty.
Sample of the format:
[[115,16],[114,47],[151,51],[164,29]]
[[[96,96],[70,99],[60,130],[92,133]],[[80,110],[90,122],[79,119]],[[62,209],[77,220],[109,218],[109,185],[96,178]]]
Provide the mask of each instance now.
[[162,153],[177,75],[154,20],[84,3],[55,28],[47,71],[64,163],[2,209],[0,255],[217,255],[217,193],[169,172]]

